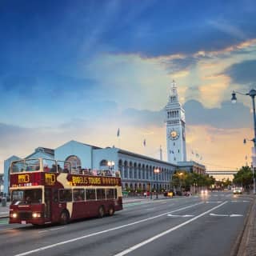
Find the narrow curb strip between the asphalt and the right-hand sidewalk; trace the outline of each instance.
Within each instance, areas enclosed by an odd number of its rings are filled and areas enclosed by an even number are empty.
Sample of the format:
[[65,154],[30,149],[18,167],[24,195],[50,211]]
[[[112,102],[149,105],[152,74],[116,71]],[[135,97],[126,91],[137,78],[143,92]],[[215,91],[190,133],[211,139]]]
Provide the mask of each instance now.
[[[248,195],[247,195],[248,196]],[[253,208],[256,205],[256,198],[254,198],[252,202],[250,202],[250,208],[246,214],[246,218],[243,222],[243,228],[238,234],[238,238],[234,242],[234,246],[232,247],[232,250],[230,252],[230,256],[245,256],[246,254],[246,246],[248,243],[248,236],[250,234],[250,222],[252,222],[253,219]]]

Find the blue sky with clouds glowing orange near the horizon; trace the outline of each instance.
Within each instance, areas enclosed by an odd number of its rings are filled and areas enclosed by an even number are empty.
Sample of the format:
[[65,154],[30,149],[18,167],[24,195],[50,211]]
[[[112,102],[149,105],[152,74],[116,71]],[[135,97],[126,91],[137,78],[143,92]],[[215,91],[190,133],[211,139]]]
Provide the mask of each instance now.
[[166,160],[173,80],[188,160],[250,165],[251,98],[230,98],[256,87],[254,0],[2,0],[0,31],[0,172],[72,139]]

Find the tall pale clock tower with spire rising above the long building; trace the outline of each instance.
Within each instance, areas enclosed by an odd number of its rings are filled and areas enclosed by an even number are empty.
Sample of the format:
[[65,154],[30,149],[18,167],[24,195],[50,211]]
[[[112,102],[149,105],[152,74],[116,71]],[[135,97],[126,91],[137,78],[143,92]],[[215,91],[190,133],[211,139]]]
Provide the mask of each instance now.
[[166,105],[166,147],[168,162],[176,164],[186,161],[185,110],[178,102],[176,83],[170,87]]

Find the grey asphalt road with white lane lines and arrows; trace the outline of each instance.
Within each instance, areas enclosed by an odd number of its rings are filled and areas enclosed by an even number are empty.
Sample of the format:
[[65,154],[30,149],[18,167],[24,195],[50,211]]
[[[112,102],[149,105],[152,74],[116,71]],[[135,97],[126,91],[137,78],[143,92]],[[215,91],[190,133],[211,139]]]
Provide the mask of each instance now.
[[230,255],[251,198],[211,193],[142,200],[112,217],[66,226],[8,225],[0,221],[0,255]]

